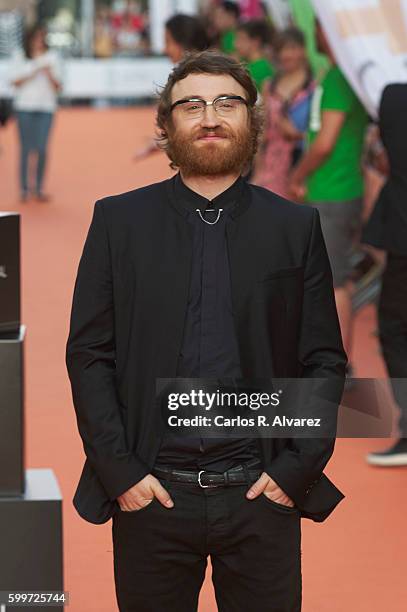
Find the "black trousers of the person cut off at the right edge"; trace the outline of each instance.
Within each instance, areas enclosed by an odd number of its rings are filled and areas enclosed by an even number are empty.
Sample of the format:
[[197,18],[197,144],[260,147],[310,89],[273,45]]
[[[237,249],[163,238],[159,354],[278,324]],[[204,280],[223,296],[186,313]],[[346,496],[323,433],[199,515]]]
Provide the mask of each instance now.
[[407,257],[389,253],[378,308],[383,357],[400,407],[399,429],[407,438]]

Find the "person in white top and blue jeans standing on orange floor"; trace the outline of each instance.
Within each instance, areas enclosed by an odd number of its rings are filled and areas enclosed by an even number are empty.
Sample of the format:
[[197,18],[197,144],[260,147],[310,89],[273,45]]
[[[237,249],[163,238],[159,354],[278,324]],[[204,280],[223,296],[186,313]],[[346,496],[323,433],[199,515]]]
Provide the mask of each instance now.
[[[10,82],[16,88],[21,202],[26,202],[30,193],[45,202],[50,199],[43,192],[47,146],[61,77],[58,58],[48,49],[46,31],[41,25],[25,32],[23,50],[18,50],[11,61]],[[35,153],[37,160],[34,184],[30,184],[29,176],[31,153]]]

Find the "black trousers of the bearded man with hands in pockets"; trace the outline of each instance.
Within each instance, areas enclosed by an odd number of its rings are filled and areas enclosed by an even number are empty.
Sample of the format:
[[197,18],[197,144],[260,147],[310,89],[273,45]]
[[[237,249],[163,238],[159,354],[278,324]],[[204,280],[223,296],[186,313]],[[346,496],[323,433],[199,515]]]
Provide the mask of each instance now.
[[172,508],[154,498],[112,518],[120,612],[196,612],[208,555],[219,612],[301,610],[296,508],[263,493],[247,499],[249,484],[203,489],[160,482]]

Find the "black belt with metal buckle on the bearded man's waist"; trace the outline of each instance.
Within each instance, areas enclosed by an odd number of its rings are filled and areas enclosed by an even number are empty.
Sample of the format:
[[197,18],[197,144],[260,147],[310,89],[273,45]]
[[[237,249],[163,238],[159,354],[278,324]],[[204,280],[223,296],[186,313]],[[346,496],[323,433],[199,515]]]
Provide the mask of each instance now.
[[171,482],[183,482],[195,485],[204,489],[208,487],[227,487],[229,485],[251,484],[257,480],[261,473],[261,466],[257,469],[250,469],[251,466],[259,465],[259,461],[248,461],[241,465],[226,470],[222,474],[211,472],[210,470],[187,471],[176,468],[154,467],[151,473],[157,478]]

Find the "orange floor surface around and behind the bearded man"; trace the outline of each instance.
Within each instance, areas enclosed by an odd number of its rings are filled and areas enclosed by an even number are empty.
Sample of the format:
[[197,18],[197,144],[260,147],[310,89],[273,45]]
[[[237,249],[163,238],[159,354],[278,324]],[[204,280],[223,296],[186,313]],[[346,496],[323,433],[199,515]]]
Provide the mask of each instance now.
[[[22,321],[26,338],[26,461],[52,468],[63,494],[65,590],[70,612],[117,610],[111,522],[83,521],[72,497],[83,464],[65,342],[78,260],[95,200],[171,175],[164,154],[135,163],[154,129],[151,108],[62,109],[53,127],[50,203],[18,201],[16,125],[0,130],[0,209],[21,213]],[[356,319],[356,375],[384,376],[375,311]],[[326,473],[346,494],[330,518],[302,521],[303,612],[407,610],[407,468],[366,465],[389,440],[339,439]],[[216,612],[208,564],[199,612]],[[253,612],[267,612],[255,610]]]

